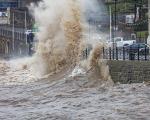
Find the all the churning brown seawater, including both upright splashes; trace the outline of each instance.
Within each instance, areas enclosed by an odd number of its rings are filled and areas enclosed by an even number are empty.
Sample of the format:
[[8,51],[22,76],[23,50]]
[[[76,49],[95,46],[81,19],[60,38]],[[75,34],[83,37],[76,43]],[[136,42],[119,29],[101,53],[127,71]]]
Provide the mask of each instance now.
[[104,43],[87,39],[84,12],[95,12],[91,3],[43,0],[30,6],[40,30],[38,47],[32,58],[0,61],[0,120],[150,118],[149,85],[114,85],[101,59]]

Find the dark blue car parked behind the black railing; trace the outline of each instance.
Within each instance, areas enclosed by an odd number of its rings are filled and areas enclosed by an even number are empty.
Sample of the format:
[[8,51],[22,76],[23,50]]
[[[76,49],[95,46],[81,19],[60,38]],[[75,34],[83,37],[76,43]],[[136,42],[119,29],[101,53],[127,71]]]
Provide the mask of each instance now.
[[129,53],[139,53],[141,55],[149,54],[149,45],[145,43],[134,43],[130,46],[127,46],[126,49]]

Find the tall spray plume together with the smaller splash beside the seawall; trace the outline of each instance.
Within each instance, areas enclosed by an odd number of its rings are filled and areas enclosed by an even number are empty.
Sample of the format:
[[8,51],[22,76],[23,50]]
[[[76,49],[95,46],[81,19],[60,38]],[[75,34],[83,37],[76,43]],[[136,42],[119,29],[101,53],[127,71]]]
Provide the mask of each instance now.
[[[83,3],[78,0],[43,0],[38,6],[30,6],[40,29],[37,34],[38,48],[31,65],[37,76],[50,76],[56,73],[59,76],[60,71],[65,73],[68,69],[74,69],[73,75],[81,70],[86,73],[92,71],[97,79],[110,78],[109,70],[104,69],[108,66],[103,62],[100,62],[103,67],[98,66],[99,60],[102,59],[102,41],[88,40],[88,24],[83,12]],[[90,45],[92,50],[83,61],[81,56],[87,45]],[[95,74],[97,67],[102,69]]]

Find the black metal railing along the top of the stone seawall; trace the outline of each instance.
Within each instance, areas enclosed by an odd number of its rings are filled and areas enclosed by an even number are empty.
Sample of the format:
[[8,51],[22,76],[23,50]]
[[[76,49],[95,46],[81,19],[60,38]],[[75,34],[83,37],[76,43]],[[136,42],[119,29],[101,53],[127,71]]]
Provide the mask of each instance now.
[[150,60],[150,48],[145,46],[133,47],[109,47],[103,48],[103,59],[109,60]]

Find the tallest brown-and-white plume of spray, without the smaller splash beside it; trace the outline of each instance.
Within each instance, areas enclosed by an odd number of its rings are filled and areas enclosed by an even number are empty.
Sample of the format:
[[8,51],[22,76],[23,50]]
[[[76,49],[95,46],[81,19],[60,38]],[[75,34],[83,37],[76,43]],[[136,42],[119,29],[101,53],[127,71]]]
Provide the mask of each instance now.
[[38,74],[46,75],[67,66],[76,66],[82,31],[78,2],[44,0],[38,6],[31,5],[30,8],[40,29],[32,67],[36,68],[35,72],[40,68]]

